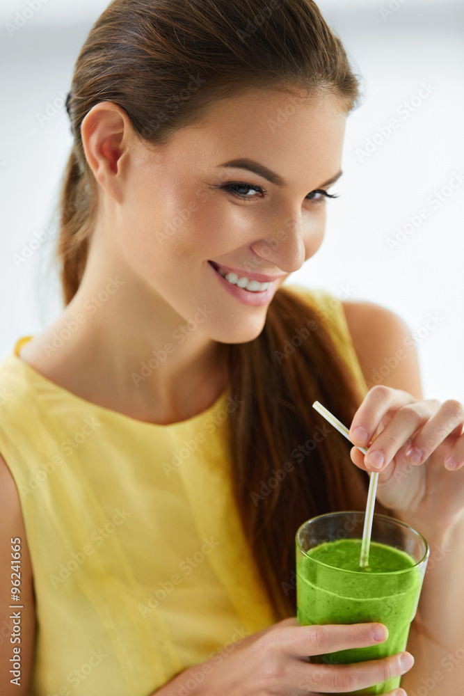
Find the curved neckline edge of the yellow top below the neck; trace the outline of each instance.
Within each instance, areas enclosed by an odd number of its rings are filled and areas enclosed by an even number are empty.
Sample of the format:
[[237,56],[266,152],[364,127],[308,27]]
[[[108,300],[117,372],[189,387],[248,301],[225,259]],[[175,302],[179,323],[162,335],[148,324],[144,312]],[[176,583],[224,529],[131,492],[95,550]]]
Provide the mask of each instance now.
[[201,411],[201,413],[196,413],[195,416],[191,416],[191,418],[186,418],[185,420],[178,420],[177,422],[174,423],[152,423],[147,420],[138,420],[138,418],[132,418],[132,416],[127,416],[126,413],[121,413],[120,411],[114,411],[113,409],[108,409],[106,406],[101,406],[100,404],[95,404],[92,401],[88,401],[87,399],[83,399],[80,396],[77,396],[77,394],[74,394],[73,392],[70,392],[69,390],[65,389],[64,387],[60,386],[54,381],[51,381],[51,379],[48,379],[48,377],[45,377],[44,374],[41,374],[41,372],[38,372],[38,370],[35,370],[35,367],[32,367],[29,363],[27,363],[21,356],[19,356],[19,351],[22,349],[22,347],[28,342],[34,338],[33,335],[28,335],[28,336],[23,336],[22,338],[19,338],[17,340],[15,347],[13,349],[13,352],[11,353],[11,357],[13,360],[17,362],[17,364],[21,365],[23,370],[25,370],[33,379],[36,381],[42,382],[47,386],[47,388],[51,388],[56,390],[58,393],[61,393],[63,396],[66,396],[83,406],[89,407],[92,406],[94,409],[97,409],[97,411],[101,411],[102,413],[106,413],[108,416],[113,416],[117,420],[124,420],[126,422],[132,423],[134,425],[138,426],[147,426],[150,428],[159,428],[159,429],[166,429],[166,428],[182,428],[182,427],[190,427],[193,423],[197,422],[198,420],[207,418],[210,416],[212,413],[217,411],[225,402],[227,398],[227,390],[223,391],[216,401],[214,401],[211,406],[208,406],[205,411]]

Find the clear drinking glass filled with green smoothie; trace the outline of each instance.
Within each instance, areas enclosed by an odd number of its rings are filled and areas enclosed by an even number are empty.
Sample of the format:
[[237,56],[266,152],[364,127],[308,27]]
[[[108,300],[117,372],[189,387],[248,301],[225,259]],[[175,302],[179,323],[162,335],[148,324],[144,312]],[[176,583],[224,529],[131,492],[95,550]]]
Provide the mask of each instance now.
[[[330,558],[330,554],[360,552],[364,519],[364,512],[334,512],[306,521],[296,532],[298,624],[380,622],[387,626],[389,636],[385,642],[371,647],[311,657],[312,663],[356,663],[384,658],[406,649],[410,622],[417,611],[429,559],[429,546],[419,532],[405,523],[374,514],[369,568],[361,569],[359,560],[354,561],[355,565],[350,570],[334,567],[339,563],[339,557],[337,559],[335,555]],[[340,541],[342,539],[351,541]],[[336,543],[320,547],[320,544],[327,542]],[[382,545],[389,548],[385,549]],[[314,551],[316,547],[319,547],[317,552]],[[329,555],[321,555],[324,552]],[[312,557],[312,553],[317,553],[319,557]],[[405,557],[405,553],[409,558]],[[385,554],[387,557],[382,560]],[[405,563],[409,567],[404,567]],[[395,567],[395,564],[396,567],[402,566],[402,569],[388,569],[389,564],[392,564],[391,567]],[[397,688],[400,680],[401,677],[394,677],[371,688],[350,693],[385,694]]]

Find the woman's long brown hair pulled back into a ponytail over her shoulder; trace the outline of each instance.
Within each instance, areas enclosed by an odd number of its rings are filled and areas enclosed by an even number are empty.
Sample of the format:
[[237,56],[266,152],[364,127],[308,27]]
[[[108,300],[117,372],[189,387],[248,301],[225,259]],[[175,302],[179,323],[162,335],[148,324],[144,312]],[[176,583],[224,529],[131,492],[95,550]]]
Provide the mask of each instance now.
[[[86,266],[98,195],[81,141],[86,113],[98,102],[115,102],[147,145],[160,144],[204,116],[214,100],[248,88],[324,90],[346,113],[360,96],[342,42],[312,0],[110,3],[77,58],[66,102],[74,146],[59,203],[65,304]],[[309,338],[286,353],[308,322],[314,322]],[[330,313],[321,315],[281,287],[262,333],[224,347],[230,393],[243,401],[230,413],[232,486],[277,619],[295,614],[298,526],[324,512],[365,507],[368,476],[351,462],[342,436],[319,437],[309,454],[295,454],[324,424],[314,400],[346,425],[362,401],[328,323]],[[286,475],[271,487],[278,470]]]

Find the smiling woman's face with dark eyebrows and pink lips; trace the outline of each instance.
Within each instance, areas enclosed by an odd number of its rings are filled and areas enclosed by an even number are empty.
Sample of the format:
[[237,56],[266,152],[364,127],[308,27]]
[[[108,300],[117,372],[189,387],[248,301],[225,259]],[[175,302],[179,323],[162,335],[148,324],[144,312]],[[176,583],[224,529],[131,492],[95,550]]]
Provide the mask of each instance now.
[[321,246],[317,190],[339,174],[345,121],[328,97],[249,91],[156,152],[131,148],[112,238],[127,270],[205,337],[256,338],[275,291]]

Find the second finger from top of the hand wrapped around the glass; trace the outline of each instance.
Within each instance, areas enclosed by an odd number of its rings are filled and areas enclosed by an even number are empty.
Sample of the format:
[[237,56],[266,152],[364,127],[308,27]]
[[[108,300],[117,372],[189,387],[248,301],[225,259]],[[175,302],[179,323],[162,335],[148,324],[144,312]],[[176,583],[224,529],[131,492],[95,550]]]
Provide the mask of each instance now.
[[316,693],[350,693],[381,684],[394,677],[401,677],[401,674],[408,672],[413,664],[413,656],[404,652],[383,660],[371,660],[352,665],[301,663],[298,667],[294,667],[294,676],[298,688],[307,688]]

